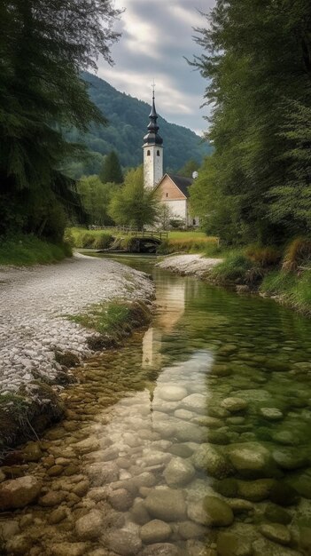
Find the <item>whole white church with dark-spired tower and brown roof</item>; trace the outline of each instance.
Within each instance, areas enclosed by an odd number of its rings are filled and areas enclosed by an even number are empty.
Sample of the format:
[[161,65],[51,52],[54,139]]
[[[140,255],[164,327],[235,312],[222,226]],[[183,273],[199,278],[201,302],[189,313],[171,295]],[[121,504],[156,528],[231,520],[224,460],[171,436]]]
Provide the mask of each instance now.
[[198,218],[190,215],[190,186],[192,178],[163,175],[163,139],[159,136],[158,115],[155,108],[154,90],[150,123],[144,136],[144,187],[157,189],[160,202],[167,205],[170,219],[182,226],[198,226]]

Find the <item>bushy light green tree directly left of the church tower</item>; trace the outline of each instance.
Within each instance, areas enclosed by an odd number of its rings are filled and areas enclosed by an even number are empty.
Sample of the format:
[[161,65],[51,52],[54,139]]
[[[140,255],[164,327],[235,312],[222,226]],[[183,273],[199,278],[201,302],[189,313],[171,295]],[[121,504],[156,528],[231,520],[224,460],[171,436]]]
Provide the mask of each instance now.
[[145,224],[155,222],[158,207],[157,193],[154,189],[144,188],[143,166],[138,166],[128,171],[124,186],[113,195],[109,214],[121,226],[142,230]]

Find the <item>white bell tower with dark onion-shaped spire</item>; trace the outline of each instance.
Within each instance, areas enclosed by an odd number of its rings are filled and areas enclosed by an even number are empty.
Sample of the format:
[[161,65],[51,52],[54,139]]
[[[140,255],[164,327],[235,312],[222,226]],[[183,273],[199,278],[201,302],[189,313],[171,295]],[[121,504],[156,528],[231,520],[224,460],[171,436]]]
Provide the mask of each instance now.
[[149,115],[148,133],[144,136],[144,187],[153,189],[163,176],[163,139],[159,136],[158,114],[152,91],[152,111]]

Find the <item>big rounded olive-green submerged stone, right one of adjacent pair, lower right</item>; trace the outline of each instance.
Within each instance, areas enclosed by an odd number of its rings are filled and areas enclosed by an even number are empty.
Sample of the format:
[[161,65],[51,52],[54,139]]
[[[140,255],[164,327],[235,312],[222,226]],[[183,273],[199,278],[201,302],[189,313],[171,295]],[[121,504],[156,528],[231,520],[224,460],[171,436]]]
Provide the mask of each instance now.
[[231,464],[239,473],[262,473],[270,461],[270,453],[259,442],[230,444],[227,454]]

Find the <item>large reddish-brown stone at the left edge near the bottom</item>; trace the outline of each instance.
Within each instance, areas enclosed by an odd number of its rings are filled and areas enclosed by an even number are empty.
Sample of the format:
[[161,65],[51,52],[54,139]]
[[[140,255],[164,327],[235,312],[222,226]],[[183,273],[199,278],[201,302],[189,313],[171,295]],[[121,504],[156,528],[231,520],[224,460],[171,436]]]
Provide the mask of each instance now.
[[35,502],[42,488],[42,482],[32,475],[25,475],[0,483],[0,509],[24,508]]

